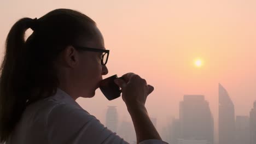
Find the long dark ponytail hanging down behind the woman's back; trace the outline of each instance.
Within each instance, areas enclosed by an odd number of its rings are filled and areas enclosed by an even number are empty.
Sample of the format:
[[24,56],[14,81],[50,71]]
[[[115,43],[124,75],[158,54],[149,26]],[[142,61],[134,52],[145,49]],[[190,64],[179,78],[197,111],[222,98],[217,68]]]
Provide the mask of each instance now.
[[0,68],[0,142],[7,140],[26,106],[26,95],[20,93],[24,81],[22,68],[26,67],[24,36],[32,23],[33,19],[20,19],[11,27],[5,41]]

